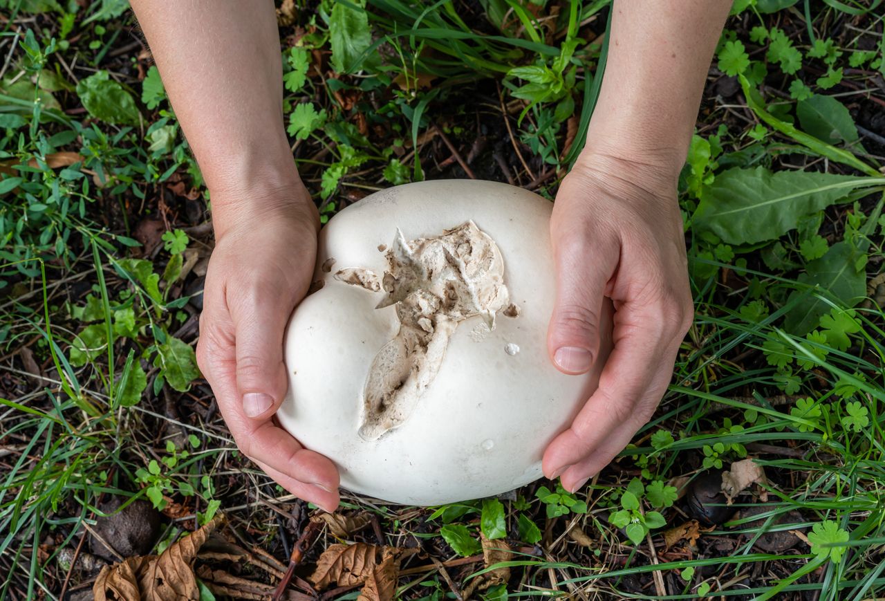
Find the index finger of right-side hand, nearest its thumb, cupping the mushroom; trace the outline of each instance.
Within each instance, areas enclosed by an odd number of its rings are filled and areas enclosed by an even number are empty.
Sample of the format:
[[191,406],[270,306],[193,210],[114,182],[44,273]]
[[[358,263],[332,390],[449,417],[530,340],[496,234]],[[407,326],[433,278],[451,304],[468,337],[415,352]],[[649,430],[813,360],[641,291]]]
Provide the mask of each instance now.
[[637,309],[635,304],[625,303],[615,312],[614,350],[600,375],[599,387],[572,426],[544,451],[543,471],[548,478],[564,474],[625,424],[635,432],[650,419],[660,400],[656,395],[663,394],[679,348],[673,311],[669,304]]

